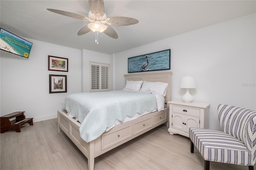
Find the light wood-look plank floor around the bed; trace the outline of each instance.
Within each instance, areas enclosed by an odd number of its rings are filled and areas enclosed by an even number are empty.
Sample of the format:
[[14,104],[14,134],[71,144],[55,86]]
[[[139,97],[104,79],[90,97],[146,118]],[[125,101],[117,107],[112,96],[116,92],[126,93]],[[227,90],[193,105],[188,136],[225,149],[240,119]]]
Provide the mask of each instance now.
[[[64,134],[57,119],[23,125],[21,132],[0,134],[1,170],[87,170],[87,158]],[[190,140],[170,135],[161,125],[95,158],[95,170],[203,170]],[[255,169],[255,167],[254,167]],[[248,166],[211,162],[210,170],[248,170]]]

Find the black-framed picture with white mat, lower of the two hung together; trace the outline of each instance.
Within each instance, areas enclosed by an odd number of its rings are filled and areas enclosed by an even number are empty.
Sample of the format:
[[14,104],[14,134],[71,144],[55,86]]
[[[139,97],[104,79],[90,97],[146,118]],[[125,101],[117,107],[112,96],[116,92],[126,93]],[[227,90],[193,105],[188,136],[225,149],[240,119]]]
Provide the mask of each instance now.
[[49,75],[50,93],[67,93],[66,75]]

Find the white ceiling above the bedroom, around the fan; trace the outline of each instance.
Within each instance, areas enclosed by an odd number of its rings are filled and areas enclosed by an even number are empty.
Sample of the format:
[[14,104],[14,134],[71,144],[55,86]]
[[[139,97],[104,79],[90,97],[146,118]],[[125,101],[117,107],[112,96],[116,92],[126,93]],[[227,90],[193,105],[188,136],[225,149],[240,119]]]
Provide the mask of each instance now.
[[88,21],[62,16],[53,8],[88,16],[87,0],[0,0],[0,26],[23,38],[111,54],[256,12],[255,0],[105,0],[107,16],[139,20],[112,26],[118,39],[95,33],[78,36]]

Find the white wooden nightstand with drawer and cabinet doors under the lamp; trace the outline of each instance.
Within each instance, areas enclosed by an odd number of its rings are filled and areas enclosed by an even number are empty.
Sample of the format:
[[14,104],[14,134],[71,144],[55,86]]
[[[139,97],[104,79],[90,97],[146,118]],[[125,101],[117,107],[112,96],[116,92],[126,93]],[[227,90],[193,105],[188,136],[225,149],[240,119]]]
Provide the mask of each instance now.
[[208,128],[209,103],[169,101],[170,134],[189,137],[189,128]]

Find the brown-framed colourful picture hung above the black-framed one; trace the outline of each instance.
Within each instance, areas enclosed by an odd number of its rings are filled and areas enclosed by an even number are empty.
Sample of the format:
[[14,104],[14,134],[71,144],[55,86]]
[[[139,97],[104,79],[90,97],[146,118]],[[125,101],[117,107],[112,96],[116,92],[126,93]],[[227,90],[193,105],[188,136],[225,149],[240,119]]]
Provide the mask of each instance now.
[[68,72],[68,58],[48,55],[48,70]]

